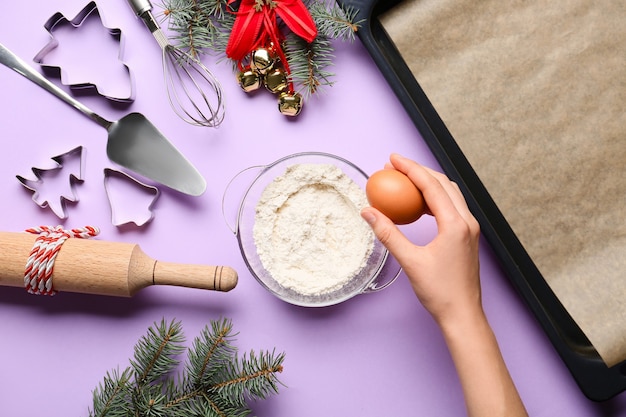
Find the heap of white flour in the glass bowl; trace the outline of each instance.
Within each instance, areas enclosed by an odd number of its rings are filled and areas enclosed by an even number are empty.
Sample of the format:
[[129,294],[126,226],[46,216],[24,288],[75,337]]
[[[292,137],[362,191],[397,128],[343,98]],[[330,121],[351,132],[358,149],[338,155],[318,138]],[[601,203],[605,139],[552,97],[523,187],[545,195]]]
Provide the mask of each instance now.
[[365,192],[330,164],[297,164],[256,207],[254,241],[265,269],[303,295],[335,291],[367,264],[374,234],[360,216]]

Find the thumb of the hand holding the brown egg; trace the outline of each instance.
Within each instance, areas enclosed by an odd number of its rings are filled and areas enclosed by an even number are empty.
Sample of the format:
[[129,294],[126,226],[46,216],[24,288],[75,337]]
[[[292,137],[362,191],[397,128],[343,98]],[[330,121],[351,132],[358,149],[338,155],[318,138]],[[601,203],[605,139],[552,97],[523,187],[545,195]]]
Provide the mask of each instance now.
[[415,245],[404,236],[395,223],[373,207],[365,207],[361,210],[361,217],[370,225],[376,238],[396,258],[400,265],[410,262],[411,253]]

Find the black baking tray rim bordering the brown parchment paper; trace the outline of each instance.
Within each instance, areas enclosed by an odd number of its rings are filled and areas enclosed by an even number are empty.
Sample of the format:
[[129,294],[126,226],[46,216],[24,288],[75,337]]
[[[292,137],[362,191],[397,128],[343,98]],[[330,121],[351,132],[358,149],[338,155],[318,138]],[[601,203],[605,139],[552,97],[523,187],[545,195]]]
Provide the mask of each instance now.
[[356,12],[358,37],[446,174],[463,191],[513,286],[534,313],[584,395],[606,401],[626,390],[626,361],[607,367],[552,292],[429,102],[377,16],[399,0],[336,0]]

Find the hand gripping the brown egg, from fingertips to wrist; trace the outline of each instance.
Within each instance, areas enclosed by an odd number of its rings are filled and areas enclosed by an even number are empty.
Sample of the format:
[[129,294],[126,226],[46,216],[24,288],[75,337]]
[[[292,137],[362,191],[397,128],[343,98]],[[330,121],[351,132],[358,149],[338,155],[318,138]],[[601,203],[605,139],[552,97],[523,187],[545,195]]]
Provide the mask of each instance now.
[[400,263],[415,294],[440,325],[467,318],[468,313],[482,314],[480,227],[459,187],[445,175],[397,154],[391,155],[387,168],[403,172],[422,192],[427,213],[435,217],[437,236],[418,246],[380,211],[367,207],[361,215]]

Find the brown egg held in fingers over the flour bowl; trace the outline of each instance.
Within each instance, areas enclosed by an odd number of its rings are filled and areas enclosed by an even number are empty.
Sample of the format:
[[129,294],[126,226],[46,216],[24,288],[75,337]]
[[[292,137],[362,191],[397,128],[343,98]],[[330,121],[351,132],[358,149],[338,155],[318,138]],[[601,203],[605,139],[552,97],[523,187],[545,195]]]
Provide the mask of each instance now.
[[420,190],[402,172],[383,169],[367,180],[365,194],[370,205],[396,224],[409,224],[424,214],[426,203]]

